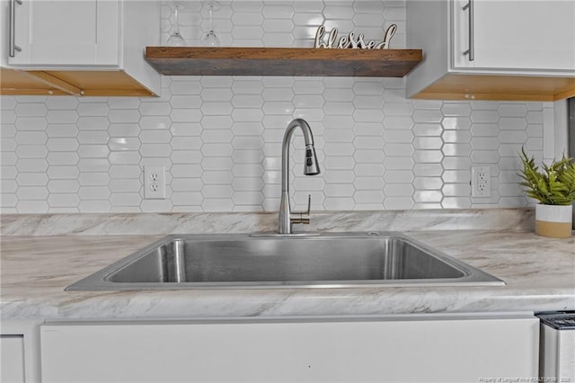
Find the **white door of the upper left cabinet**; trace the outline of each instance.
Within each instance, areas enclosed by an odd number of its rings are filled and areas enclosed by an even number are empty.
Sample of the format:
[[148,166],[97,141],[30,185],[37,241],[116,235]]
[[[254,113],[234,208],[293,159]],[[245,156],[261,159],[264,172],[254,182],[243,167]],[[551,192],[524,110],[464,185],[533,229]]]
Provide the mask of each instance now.
[[119,0],[22,0],[8,63],[30,67],[119,65]]

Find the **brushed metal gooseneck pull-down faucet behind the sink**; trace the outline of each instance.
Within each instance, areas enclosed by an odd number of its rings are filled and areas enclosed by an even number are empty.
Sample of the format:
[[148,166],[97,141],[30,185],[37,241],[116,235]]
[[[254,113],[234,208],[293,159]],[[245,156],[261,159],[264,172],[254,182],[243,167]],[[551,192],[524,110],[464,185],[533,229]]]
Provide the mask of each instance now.
[[[312,203],[312,196],[307,200],[307,211],[291,211],[289,208],[289,143],[294,134],[294,129],[299,127],[304,133],[305,140],[305,163],[304,174],[315,175],[320,173],[315,156],[314,135],[307,122],[302,119],[296,119],[289,123],[284,140],[281,146],[281,202],[279,204],[279,234],[291,234],[291,225],[309,224],[309,213]],[[296,217],[292,218],[294,215]]]

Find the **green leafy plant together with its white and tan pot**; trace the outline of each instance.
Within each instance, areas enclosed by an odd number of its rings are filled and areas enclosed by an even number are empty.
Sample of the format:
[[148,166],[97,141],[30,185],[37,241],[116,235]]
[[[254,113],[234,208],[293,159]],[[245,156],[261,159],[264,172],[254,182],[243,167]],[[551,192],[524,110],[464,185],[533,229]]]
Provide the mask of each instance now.
[[523,179],[527,196],[539,203],[535,206],[535,233],[538,236],[568,238],[571,236],[573,200],[575,200],[575,161],[562,156],[551,165],[535,165],[533,157],[527,157],[521,148]]

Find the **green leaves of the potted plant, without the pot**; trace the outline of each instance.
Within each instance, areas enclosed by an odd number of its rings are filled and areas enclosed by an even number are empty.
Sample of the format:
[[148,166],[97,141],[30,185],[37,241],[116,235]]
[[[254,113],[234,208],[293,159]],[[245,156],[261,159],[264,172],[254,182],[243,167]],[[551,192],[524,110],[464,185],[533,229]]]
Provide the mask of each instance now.
[[521,148],[523,170],[518,174],[526,187],[527,196],[539,200],[544,205],[571,205],[575,200],[575,161],[564,155],[551,165],[535,165],[533,157],[527,157]]

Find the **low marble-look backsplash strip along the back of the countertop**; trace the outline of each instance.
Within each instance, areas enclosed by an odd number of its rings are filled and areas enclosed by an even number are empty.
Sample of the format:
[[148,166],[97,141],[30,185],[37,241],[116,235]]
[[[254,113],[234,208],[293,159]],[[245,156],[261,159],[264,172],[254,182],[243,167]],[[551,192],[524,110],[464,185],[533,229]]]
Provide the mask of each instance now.
[[[314,211],[299,231],[532,231],[535,211],[521,209],[412,209]],[[275,212],[4,214],[2,236],[100,236],[250,233],[275,231]]]

